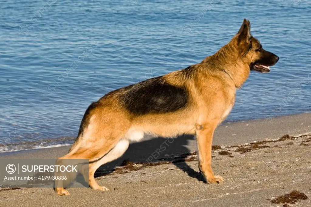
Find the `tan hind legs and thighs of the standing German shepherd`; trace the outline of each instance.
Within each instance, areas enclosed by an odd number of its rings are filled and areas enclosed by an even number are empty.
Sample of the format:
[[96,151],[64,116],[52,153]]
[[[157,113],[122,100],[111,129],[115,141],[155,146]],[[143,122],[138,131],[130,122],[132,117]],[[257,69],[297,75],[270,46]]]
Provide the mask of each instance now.
[[[90,118],[88,126],[83,130],[83,134],[77,138],[68,154],[57,160],[57,164],[62,165],[65,162],[63,159],[88,159],[89,164],[82,165],[81,170],[79,169],[80,172],[84,178],[89,177],[89,180],[86,181],[89,182],[91,188],[106,190],[105,187],[100,187],[96,183],[94,173],[101,164],[118,158],[126,151],[128,141],[122,139],[130,127],[130,122],[123,119],[123,123],[111,121],[108,125],[100,123],[100,120],[96,118],[95,116]],[[70,160],[66,160],[66,162],[70,162]],[[89,172],[86,169],[89,169]],[[86,176],[85,172],[89,176]],[[65,176],[65,173],[61,175]],[[55,182],[55,191],[58,195],[69,195],[68,191],[63,188],[63,184],[72,181],[74,175],[72,174],[71,177],[66,181]]]

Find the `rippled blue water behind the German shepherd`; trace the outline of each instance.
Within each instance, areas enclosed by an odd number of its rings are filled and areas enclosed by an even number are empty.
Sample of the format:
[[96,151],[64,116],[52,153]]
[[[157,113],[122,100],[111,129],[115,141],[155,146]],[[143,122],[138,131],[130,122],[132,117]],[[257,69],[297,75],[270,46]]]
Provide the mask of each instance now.
[[227,121],[311,111],[310,1],[8,0],[0,8],[0,151],[72,142],[92,101],[201,62],[244,18],[280,60],[250,75]]

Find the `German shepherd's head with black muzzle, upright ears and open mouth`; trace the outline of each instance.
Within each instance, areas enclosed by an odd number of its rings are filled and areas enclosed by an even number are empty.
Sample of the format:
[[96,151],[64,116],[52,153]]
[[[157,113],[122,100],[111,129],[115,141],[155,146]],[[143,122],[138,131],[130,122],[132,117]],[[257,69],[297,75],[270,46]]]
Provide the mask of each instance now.
[[248,63],[250,70],[268,73],[270,72],[270,66],[275,65],[279,57],[264,50],[258,39],[251,35],[250,29],[250,22],[244,19],[236,35],[240,55],[243,61]]

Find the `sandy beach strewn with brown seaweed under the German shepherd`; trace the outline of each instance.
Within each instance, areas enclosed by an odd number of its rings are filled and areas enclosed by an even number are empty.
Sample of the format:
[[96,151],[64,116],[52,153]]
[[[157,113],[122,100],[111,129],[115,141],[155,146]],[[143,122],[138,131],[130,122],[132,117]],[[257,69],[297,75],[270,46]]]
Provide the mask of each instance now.
[[[269,123],[267,123],[269,122]],[[271,123],[270,123],[271,122]],[[147,159],[167,140],[152,162]],[[212,166],[225,183],[202,182],[192,136],[146,140],[130,145],[118,160],[96,173],[110,191],[70,188],[57,196],[52,188],[0,189],[1,206],[311,206],[311,114],[227,123],[213,141]],[[2,153],[8,158],[56,158],[68,146]],[[272,203],[298,191],[293,204]],[[282,200],[282,199],[279,199]],[[277,200],[277,201],[279,201]]]

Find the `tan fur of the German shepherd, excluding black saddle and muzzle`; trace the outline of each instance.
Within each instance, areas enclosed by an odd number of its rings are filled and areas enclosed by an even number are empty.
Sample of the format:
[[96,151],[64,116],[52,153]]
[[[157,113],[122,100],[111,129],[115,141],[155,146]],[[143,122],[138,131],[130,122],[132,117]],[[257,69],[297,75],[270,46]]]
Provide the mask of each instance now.
[[[240,88],[249,76],[250,63],[259,58],[253,49],[247,52],[248,39],[239,41],[242,33],[243,30],[214,55],[192,65],[188,74],[179,70],[163,76],[169,84],[187,88],[190,98],[185,109],[135,116],[118,101],[128,89],[111,92],[98,101],[100,106],[91,110],[88,126],[61,159],[90,159],[93,162],[89,166],[91,188],[107,190],[96,183],[95,170],[121,156],[127,148],[125,140],[139,141],[143,133],[162,137],[196,134],[201,172],[209,183],[223,182],[223,178],[215,176],[211,169],[213,133],[230,113],[236,88]],[[250,35],[249,31],[247,34]],[[260,44],[256,39],[253,42],[254,47]],[[125,145],[118,148],[120,142]],[[58,195],[69,194],[61,187],[56,191]]]

